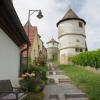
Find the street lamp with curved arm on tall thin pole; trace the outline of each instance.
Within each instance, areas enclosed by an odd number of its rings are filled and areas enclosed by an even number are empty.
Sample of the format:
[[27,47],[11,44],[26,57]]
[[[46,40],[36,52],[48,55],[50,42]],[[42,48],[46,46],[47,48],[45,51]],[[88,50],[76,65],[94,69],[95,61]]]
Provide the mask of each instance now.
[[[30,28],[29,27],[30,16],[33,15],[35,12],[38,12],[38,14],[37,14],[38,19],[43,18],[41,10],[29,10],[28,11],[28,37],[29,37],[29,32],[30,32],[30,29],[29,29]],[[28,51],[29,51],[29,44],[27,44],[27,67],[28,67]]]

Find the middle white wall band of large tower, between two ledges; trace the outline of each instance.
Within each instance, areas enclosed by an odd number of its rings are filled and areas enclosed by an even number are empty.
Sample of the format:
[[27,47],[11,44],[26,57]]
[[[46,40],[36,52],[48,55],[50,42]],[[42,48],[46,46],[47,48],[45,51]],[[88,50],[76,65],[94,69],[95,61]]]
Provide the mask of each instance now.
[[59,39],[60,49],[67,47],[85,48],[85,37],[82,35],[65,35]]

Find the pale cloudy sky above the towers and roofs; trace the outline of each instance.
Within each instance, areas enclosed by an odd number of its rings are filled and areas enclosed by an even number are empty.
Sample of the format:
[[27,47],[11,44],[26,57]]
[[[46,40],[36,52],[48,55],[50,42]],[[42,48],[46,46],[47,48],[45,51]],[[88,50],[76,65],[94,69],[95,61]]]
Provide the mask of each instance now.
[[56,23],[71,6],[87,22],[86,41],[89,50],[100,48],[100,0],[13,0],[13,3],[23,25],[28,20],[29,9],[42,10],[44,18],[39,20],[36,18],[37,13],[34,13],[31,23],[38,27],[38,33],[45,44],[52,36],[57,40]]

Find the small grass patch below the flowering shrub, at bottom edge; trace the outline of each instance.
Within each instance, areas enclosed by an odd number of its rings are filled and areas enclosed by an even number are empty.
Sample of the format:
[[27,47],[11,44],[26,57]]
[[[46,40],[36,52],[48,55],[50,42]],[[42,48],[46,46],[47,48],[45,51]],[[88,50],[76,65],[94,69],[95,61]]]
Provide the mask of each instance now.
[[29,93],[27,96],[27,100],[43,100],[44,98],[44,93]]

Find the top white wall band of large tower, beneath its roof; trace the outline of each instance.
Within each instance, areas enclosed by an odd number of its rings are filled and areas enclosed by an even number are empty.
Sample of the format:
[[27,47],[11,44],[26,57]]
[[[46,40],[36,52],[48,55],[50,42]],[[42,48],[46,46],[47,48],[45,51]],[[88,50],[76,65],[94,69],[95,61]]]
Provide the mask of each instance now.
[[[82,23],[83,25],[82,28],[79,27],[79,22]],[[59,36],[66,33],[68,34],[77,33],[85,35],[85,25],[82,21],[79,20],[66,20],[58,25],[58,33]]]

